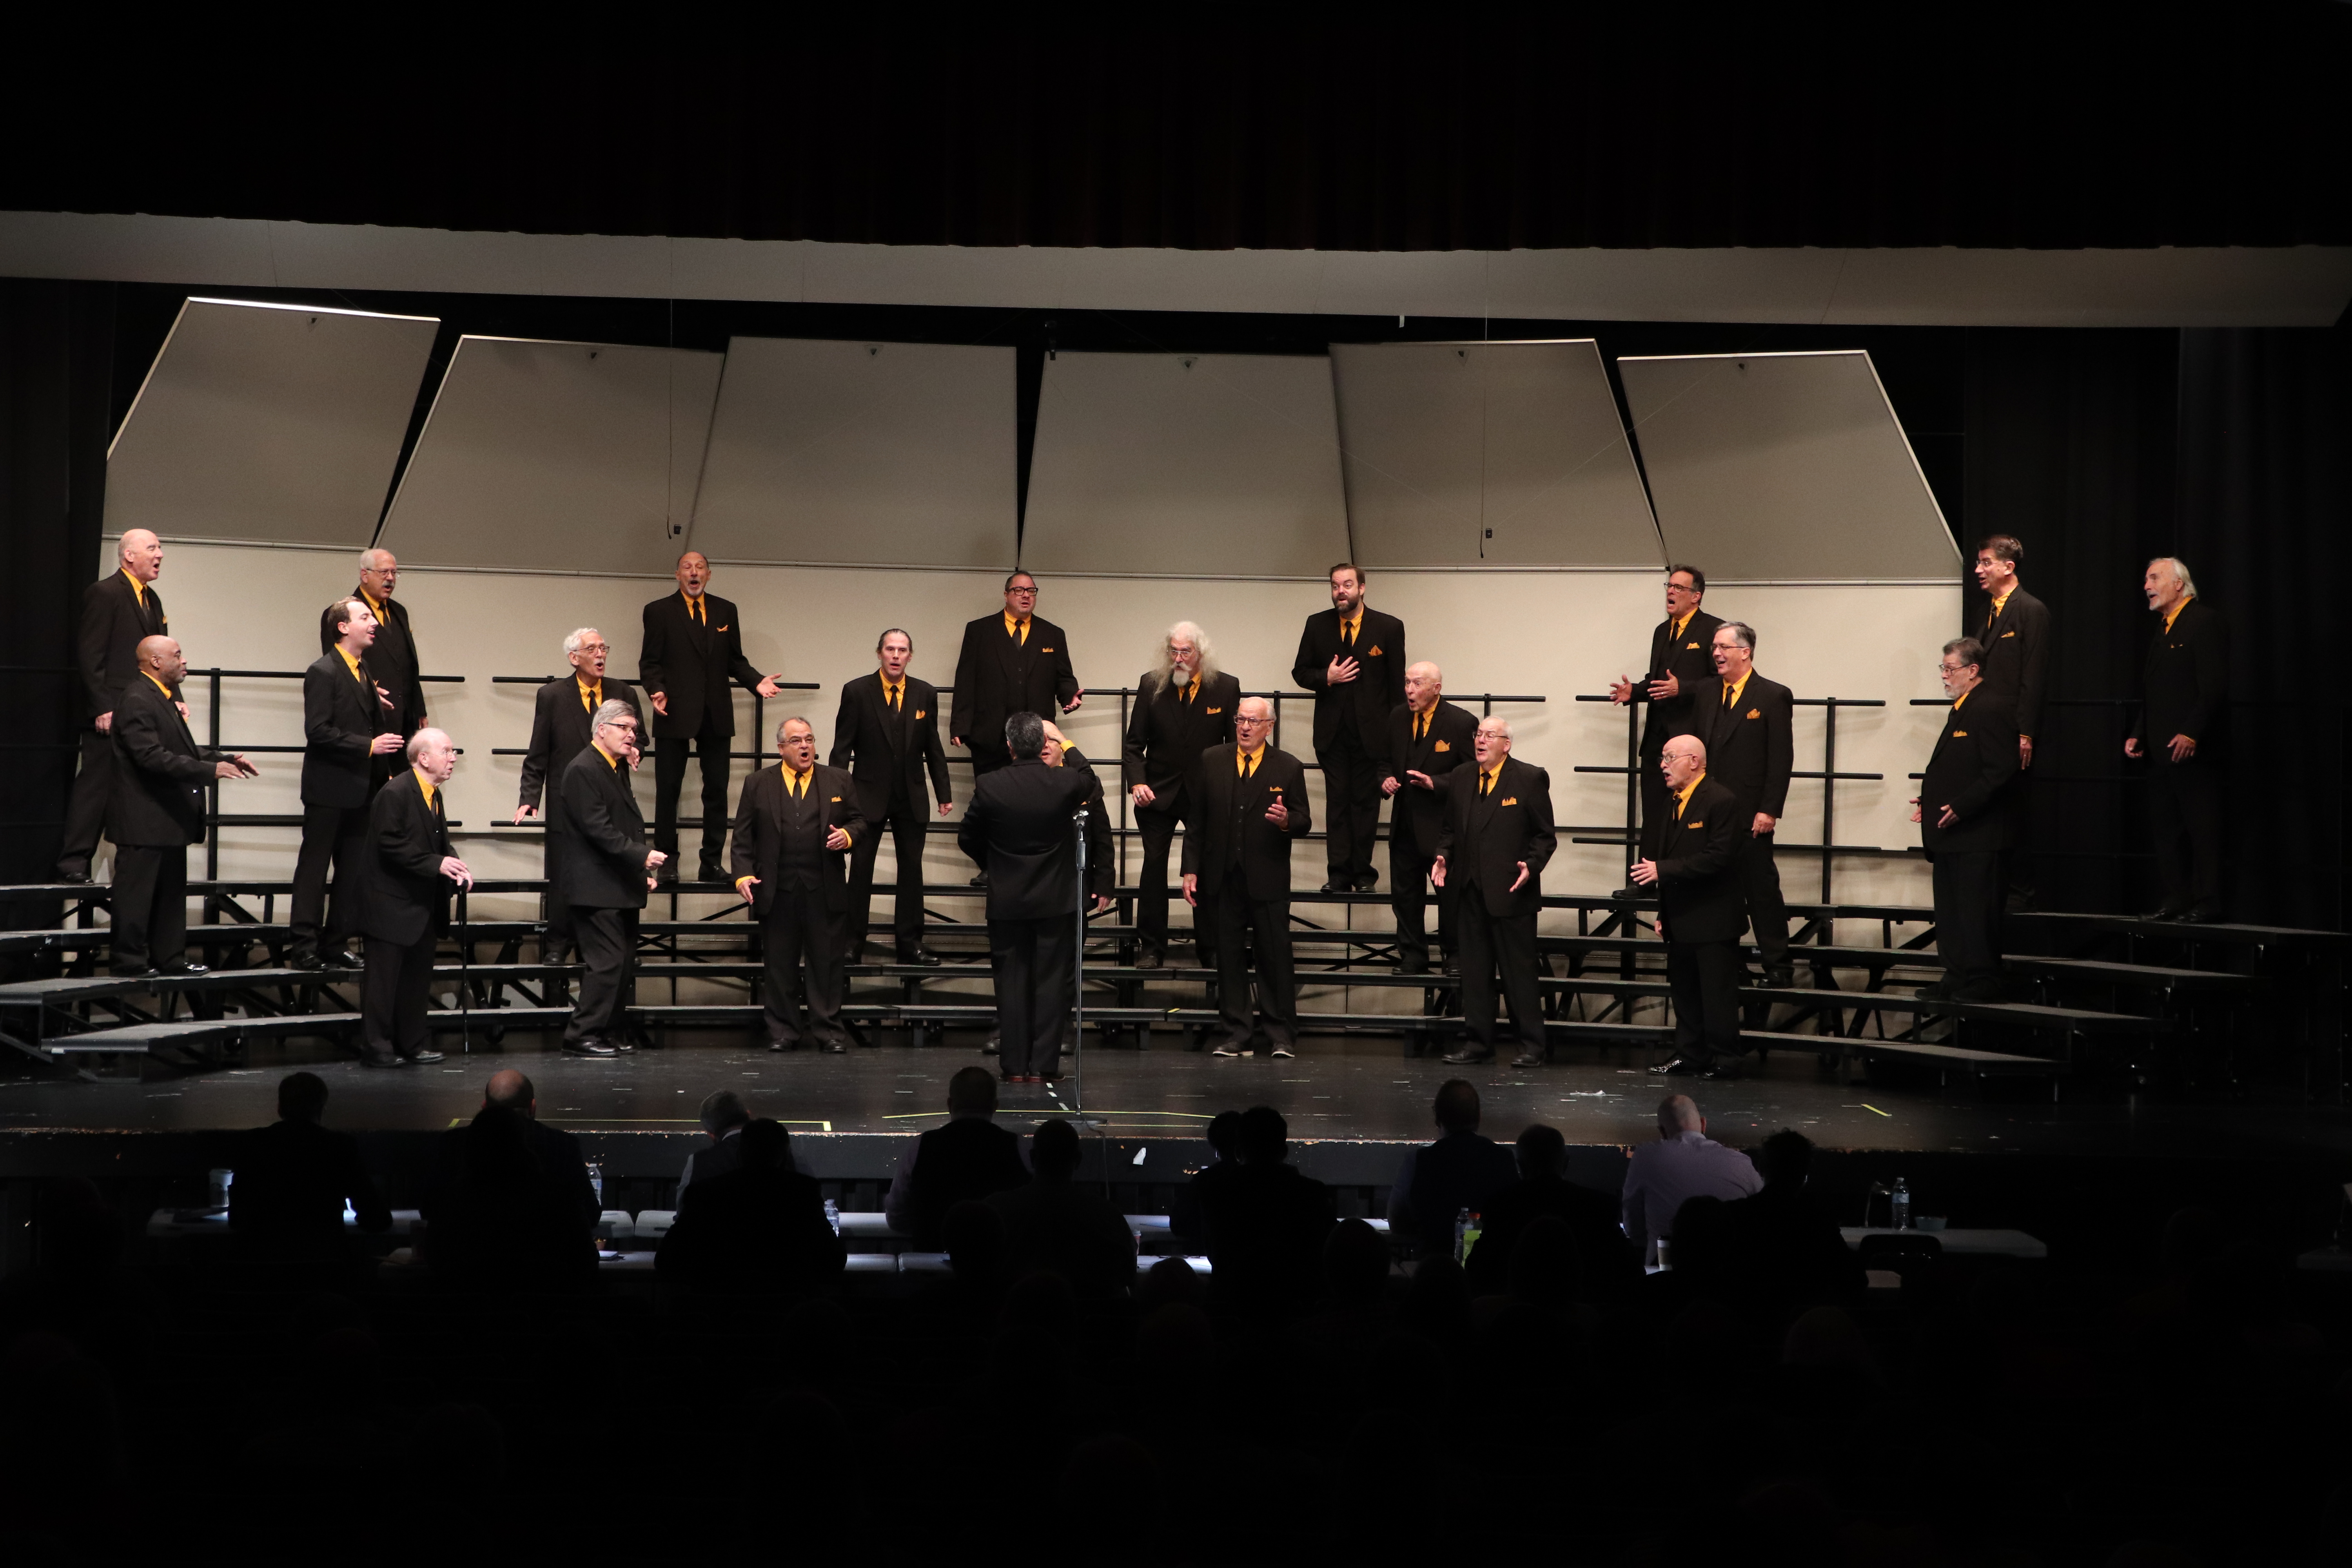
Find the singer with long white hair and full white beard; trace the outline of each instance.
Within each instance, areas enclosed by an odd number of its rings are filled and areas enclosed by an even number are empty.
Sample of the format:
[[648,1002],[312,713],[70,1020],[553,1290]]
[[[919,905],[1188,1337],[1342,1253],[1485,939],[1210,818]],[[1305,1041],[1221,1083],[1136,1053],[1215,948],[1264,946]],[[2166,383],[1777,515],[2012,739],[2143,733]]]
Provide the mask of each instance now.
[[[1160,969],[1169,945],[1169,844],[1178,823],[1190,820],[1185,778],[1211,745],[1232,745],[1232,715],[1242,705],[1242,682],[1216,668],[1209,635],[1190,621],[1169,628],[1160,644],[1160,668],[1136,679],[1136,708],[1127,717],[1127,799],[1143,832],[1143,867],[1136,875],[1136,966]],[[1195,943],[1207,936],[1195,931]],[[1214,950],[1214,943],[1207,945]]]

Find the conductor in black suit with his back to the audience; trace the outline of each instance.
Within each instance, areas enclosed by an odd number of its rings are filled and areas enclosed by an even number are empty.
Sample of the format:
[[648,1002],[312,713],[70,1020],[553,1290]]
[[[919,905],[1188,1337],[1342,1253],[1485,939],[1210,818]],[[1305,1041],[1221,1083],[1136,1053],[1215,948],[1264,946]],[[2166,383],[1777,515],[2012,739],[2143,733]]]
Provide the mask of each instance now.
[[[988,877],[988,969],[1004,1081],[1051,1084],[1061,1077],[1077,959],[1070,832],[1091,773],[1044,764],[1044,719],[1035,712],[1004,719],[1004,752],[1011,762],[974,785],[955,844]],[[1094,907],[1105,903],[1096,898]]]

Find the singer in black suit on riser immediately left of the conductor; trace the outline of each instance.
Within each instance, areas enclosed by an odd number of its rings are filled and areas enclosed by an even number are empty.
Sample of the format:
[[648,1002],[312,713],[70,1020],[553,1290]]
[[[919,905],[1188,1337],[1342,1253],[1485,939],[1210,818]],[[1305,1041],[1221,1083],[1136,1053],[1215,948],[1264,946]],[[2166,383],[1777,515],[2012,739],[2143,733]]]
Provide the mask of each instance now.
[[882,632],[875,658],[880,670],[842,686],[828,757],[833,766],[849,769],[866,816],[866,832],[856,835],[849,851],[849,919],[842,940],[849,957],[866,943],[875,856],[887,827],[898,860],[891,945],[901,964],[938,964],[938,954],[922,945],[922,844],[929,835],[931,795],[938,795],[938,816],[948,816],[955,802],[948,752],[938,745],[938,689],[906,672],[915,658],[915,639],[896,625]]

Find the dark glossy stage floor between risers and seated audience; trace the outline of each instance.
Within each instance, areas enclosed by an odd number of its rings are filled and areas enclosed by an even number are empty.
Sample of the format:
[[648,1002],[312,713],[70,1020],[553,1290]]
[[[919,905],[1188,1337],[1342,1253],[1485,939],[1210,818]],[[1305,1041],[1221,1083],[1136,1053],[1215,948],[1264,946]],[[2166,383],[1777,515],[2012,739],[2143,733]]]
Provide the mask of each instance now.
[[[539,1114],[600,1133],[687,1133],[713,1088],[736,1088],[753,1114],[795,1131],[917,1133],[943,1117],[953,1072],[988,1065],[978,1034],[910,1048],[880,1037],[849,1056],[746,1051],[739,1032],[675,1030],[673,1044],[616,1060],[579,1060],[555,1037],[508,1034],[501,1046],[452,1051],[433,1067],[372,1072],[310,1041],[259,1041],[245,1065],[141,1079],[0,1079],[0,1131],[200,1131],[275,1119],[278,1079],[306,1067],[327,1079],[327,1121],[350,1131],[428,1131],[470,1117],[482,1079],[520,1067],[539,1088]],[[454,1044],[454,1041],[449,1041]],[[1564,1051],[1562,1065],[1446,1067],[1409,1058],[1397,1039],[1308,1039],[1294,1060],[1188,1053],[1164,1041],[1148,1053],[1089,1048],[1084,1110],[1127,1138],[1185,1138],[1221,1110],[1275,1105],[1294,1140],[1414,1143],[1432,1135],[1430,1095],[1468,1077],[1484,1098],[1484,1131],[1508,1140],[1529,1121],[1557,1126],[1571,1145],[1653,1138],[1656,1105],[1682,1091],[1712,1131],[1752,1145],[1792,1126],[1830,1150],[1938,1150],[1969,1154],[2204,1154],[2284,1157],[2352,1152],[2352,1110],[2328,1105],[2157,1103],[2065,1084],[2051,1103],[2039,1081],[1957,1084],[1879,1070],[1842,1084],[1811,1053],[1776,1053],[1738,1081],[1653,1079],[1639,1053]],[[1077,1081],[1056,1091],[1002,1086],[1002,1117],[1021,1124],[1077,1107]]]

